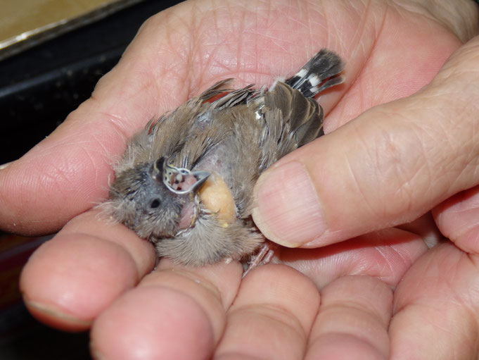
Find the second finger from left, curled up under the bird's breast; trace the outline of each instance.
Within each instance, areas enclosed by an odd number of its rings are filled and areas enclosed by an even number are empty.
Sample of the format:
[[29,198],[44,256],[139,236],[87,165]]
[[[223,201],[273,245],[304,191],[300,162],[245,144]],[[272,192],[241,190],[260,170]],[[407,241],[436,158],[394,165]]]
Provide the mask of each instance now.
[[205,268],[160,263],[101,314],[91,330],[98,359],[210,359],[236,295],[237,262]]

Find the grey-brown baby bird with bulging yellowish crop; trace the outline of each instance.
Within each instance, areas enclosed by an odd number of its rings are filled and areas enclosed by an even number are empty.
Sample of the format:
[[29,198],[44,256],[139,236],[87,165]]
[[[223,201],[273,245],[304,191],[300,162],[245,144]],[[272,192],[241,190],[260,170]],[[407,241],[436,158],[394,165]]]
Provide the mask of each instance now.
[[343,61],[321,49],[272,87],[222,80],[151,120],[115,166],[108,214],[185,265],[245,260],[264,237],[251,220],[253,186],[290,151],[323,135],[312,97],[343,82]]

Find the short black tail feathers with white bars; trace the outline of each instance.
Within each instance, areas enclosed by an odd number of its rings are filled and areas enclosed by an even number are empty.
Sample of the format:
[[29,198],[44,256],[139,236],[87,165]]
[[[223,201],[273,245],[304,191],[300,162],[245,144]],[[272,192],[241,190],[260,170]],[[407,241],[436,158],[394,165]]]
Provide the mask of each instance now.
[[324,89],[343,82],[343,77],[339,75],[343,68],[344,63],[337,54],[321,49],[285,82],[300,90],[305,97],[314,97]]

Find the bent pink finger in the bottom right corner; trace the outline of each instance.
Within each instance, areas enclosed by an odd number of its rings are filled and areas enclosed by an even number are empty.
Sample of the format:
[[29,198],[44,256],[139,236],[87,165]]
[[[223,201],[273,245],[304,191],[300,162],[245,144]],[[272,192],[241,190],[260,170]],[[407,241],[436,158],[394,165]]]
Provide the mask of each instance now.
[[391,359],[475,359],[478,257],[447,242],[417,261],[395,291]]

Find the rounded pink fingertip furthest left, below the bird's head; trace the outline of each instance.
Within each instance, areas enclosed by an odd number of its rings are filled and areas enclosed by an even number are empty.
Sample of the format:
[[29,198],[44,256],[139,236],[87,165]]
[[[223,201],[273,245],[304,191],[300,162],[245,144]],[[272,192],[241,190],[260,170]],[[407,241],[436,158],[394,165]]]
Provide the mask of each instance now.
[[139,280],[127,251],[88,235],[57,235],[37,249],[20,275],[20,291],[39,321],[84,330]]

